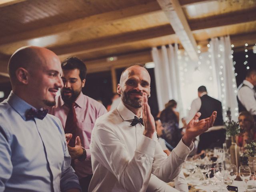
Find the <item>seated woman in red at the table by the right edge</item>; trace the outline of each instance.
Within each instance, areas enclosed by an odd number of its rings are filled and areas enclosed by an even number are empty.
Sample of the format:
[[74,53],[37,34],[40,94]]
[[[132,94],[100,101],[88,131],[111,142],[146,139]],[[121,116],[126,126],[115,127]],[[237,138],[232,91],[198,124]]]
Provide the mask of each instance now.
[[236,144],[239,147],[244,147],[246,142],[256,139],[255,122],[252,115],[247,111],[240,112],[238,122],[240,134],[236,136]]

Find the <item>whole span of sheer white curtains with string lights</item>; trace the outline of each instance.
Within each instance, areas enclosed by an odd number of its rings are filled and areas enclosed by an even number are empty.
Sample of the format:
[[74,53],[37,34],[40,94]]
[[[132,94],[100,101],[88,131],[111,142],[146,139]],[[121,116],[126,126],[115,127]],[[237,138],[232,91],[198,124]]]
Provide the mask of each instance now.
[[222,102],[223,118],[230,107],[232,119],[237,120],[236,78],[231,58],[229,36],[212,38],[208,52],[199,54],[199,60],[190,60],[186,52],[168,45],[152,48],[155,63],[156,91],[159,110],[170,99],[178,102],[180,117],[186,116],[197,88],[205,85],[209,96]]

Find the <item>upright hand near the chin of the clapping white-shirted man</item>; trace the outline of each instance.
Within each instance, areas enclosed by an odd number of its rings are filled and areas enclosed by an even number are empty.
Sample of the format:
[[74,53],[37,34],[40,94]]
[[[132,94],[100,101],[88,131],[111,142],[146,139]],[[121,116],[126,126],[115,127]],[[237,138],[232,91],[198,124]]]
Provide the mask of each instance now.
[[144,135],[153,138],[153,134],[156,131],[154,117],[150,112],[150,107],[148,105],[148,97],[146,93],[143,93],[142,98],[142,118],[145,126]]

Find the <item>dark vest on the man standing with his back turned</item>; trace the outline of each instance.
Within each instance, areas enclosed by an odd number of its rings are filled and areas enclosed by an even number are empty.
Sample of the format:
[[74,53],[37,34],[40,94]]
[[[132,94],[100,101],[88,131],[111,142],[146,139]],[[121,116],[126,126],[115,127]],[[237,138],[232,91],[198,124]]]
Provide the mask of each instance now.
[[199,120],[208,118],[212,115],[212,112],[217,111],[217,117],[213,126],[223,125],[222,118],[222,104],[219,100],[216,100],[208,95],[200,97],[202,105],[198,112],[201,113]]

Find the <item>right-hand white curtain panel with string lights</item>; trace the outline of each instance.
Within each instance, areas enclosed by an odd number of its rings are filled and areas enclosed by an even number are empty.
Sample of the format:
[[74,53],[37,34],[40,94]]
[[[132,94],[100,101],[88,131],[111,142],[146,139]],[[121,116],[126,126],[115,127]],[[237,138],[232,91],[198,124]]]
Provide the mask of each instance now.
[[218,100],[222,102],[223,111],[225,112],[230,108],[232,119],[237,120],[237,86],[234,75],[230,37],[212,38],[210,40],[209,52],[212,57],[213,72],[215,74],[213,77],[218,84]]

